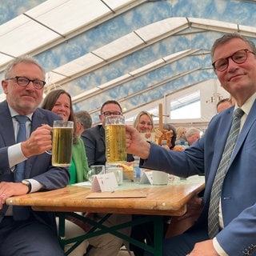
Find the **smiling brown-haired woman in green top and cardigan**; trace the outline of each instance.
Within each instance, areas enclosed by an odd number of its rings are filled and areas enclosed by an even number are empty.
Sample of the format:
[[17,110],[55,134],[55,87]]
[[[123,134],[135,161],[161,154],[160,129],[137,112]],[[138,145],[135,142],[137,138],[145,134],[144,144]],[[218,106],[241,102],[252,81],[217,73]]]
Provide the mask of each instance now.
[[86,148],[82,139],[76,134],[76,122],[70,94],[62,89],[52,90],[46,95],[46,98],[44,98],[42,108],[58,114],[64,121],[74,122],[69,184],[86,181],[89,170],[86,157]]

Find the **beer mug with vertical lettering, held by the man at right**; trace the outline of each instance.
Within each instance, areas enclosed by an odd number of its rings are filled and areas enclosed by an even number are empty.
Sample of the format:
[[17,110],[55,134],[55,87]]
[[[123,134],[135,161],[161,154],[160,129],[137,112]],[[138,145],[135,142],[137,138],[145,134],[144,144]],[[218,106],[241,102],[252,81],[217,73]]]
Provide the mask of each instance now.
[[126,162],[125,117],[105,117],[106,162],[110,165]]

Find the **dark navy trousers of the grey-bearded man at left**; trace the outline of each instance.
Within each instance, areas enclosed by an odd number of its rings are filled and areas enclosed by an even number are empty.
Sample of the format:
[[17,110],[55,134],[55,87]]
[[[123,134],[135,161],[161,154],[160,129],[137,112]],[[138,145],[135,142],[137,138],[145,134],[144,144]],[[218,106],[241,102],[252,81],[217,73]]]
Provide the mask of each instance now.
[[34,218],[14,221],[5,217],[0,223],[1,256],[64,256],[56,232]]

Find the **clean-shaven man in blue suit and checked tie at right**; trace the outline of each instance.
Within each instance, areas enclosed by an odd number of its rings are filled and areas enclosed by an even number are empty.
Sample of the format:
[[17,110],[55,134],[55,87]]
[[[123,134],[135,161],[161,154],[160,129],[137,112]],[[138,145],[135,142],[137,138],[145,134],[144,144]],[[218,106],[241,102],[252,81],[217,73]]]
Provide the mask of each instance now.
[[[218,256],[254,255],[256,251],[256,49],[253,42],[239,34],[225,34],[214,42],[211,56],[214,71],[222,86],[234,97],[235,106],[211,120],[206,133],[190,148],[178,152],[143,142],[138,132],[126,127],[129,153],[144,160],[146,168],[188,177],[205,174],[203,210],[184,234],[168,238],[164,255]],[[230,132],[234,110],[242,109],[239,134],[226,166],[218,198],[217,232],[210,235],[209,214],[214,193],[214,178]],[[226,151],[226,150],[225,150]],[[217,171],[218,170],[218,171]],[[208,230],[209,224],[209,230]],[[208,232],[209,231],[209,232]],[[209,233],[209,234],[208,234]]]

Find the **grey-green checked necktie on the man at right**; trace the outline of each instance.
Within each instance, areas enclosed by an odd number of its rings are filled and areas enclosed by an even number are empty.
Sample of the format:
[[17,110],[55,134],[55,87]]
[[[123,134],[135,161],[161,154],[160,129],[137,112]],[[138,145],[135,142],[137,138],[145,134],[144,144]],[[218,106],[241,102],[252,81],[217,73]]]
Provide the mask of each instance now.
[[240,122],[243,114],[243,110],[239,108],[234,110],[230,134],[226,139],[226,146],[222,154],[222,160],[218,166],[218,170],[214,178],[214,183],[210,194],[210,206],[208,211],[208,234],[210,238],[214,238],[215,235],[219,232],[218,206],[221,197],[222,183],[228,170],[230,158],[234,150],[234,145],[238,140]]

